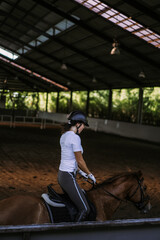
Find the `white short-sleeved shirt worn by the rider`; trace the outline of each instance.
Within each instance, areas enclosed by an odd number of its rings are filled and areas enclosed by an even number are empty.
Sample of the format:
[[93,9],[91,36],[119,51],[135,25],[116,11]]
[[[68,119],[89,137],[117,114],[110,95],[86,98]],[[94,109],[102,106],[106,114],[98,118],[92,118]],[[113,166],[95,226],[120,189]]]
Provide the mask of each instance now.
[[78,168],[78,164],[74,152],[81,151],[83,153],[80,137],[73,131],[67,131],[62,134],[60,138],[60,145],[61,162],[59,170],[65,172],[75,172]]

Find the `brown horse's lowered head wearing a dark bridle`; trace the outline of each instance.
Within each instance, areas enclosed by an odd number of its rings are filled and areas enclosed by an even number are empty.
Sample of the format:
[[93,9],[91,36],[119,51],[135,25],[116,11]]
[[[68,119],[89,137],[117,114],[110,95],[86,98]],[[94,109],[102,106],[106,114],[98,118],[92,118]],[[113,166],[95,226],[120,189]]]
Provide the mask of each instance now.
[[133,175],[134,185],[127,195],[127,200],[131,201],[143,213],[147,213],[151,209],[150,197],[146,192],[144,178],[142,172],[138,171]]

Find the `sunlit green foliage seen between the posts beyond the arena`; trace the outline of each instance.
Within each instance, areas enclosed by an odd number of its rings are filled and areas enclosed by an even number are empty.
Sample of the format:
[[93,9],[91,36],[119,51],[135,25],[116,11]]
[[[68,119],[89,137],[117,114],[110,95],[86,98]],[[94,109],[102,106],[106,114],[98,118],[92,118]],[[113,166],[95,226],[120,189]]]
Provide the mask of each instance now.
[[[143,124],[160,126],[160,88],[144,88]],[[112,120],[137,122],[139,89],[112,90]],[[6,108],[46,111],[46,93],[7,92]],[[59,112],[69,113],[70,92],[59,93]],[[89,117],[108,118],[109,90],[91,91]],[[87,91],[73,92],[72,110],[86,111]],[[56,112],[57,93],[48,94],[47,110]]]

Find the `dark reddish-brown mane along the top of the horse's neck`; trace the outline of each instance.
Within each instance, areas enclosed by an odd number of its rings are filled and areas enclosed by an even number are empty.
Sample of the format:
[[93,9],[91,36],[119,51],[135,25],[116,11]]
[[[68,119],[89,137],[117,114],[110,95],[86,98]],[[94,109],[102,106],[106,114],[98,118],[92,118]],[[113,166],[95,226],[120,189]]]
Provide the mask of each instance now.
[[97,187],[102,187],[103,185],[106,185],[106,184],[111,184],[111,183],[113,183],[114,181],[116,181],[117,179],[119,179],[121,177],[129,177],[131,175],[139,178],[142,175],[142,172],[141,171],[138,171],[138,172],[123,172],[123,173],[114,175],[114,176],[112,176],[110,178],[107,178],[102,183],[97,184],[96,188]]

